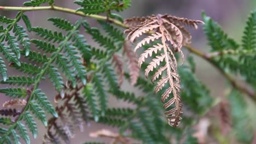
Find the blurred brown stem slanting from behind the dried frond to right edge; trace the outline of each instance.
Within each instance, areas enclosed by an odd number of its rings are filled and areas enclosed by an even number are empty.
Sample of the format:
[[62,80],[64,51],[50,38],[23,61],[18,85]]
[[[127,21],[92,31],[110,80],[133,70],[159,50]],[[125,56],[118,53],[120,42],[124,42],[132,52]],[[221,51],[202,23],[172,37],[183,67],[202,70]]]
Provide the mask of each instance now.
[[229,75],[228,73],[225,72],[225,70],[223,70],[222,68],[219,67],[219,65],[213,61],[213,59],[211,59],[211,55],[209,55],[208,53],[203,53],[202,51],[196,49],[193,46],[190,45],[185,45],[185,48],[187,48],[190,52],[194,53],[195,55],[205,59],[207,62],[211,63],[215,68],[217,68],[219,70],[219,72],[226,77],[227,80],[229,80],[229,82],[231,83],[231,85],[237,89],[239,89],[241,92],[246,93],[251,99],[253,99],[254,101],[256,101],[256,97],[255,97],[255,93],[254,91],[252,91],[251,89],[249,89],[246,86],[240,85],[238,82],[236,82],[236,80]]

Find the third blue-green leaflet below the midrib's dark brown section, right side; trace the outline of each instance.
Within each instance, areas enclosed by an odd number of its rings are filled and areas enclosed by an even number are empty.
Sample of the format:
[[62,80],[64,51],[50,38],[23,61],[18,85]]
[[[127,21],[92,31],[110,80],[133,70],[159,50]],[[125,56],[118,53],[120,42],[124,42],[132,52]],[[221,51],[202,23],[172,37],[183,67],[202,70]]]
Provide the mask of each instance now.
[[34,118],[30,115],[30,112],[25,111],[24,115],[23,115],[23,119],[27,124],[28,129],[30,129],[30,131],[32,132],[32,135],[34,137],[34,139],[37,138],[37,124],[34,121]]

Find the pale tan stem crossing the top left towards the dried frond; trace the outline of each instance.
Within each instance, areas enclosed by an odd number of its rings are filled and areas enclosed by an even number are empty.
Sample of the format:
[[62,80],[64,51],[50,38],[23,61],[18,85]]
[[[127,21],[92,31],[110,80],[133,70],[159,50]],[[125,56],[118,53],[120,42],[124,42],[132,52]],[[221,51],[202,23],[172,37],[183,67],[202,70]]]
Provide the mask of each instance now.
[[69,8],[57,7],[57,6],[54,6],[54,5],[46,6],[46,7],[2,7],[2,6],[0,6],[0,10],[1,9],[2,10],[19,10],[19,11],[56,10],[56,11],[62,11],[62,12],[69,13],[69,14],[91,17],[91,18],[97,19],[97,20],[107,20],[107,21],[113,22],[116,25],[124,27],[124,28],[129,27],[129,26],[124,25],[123,22],[112,19],[112,18],[107,17],[107,16],[92,15],[92,14],[88,15],[88,14],[84,14],[82,11],[77,11],[77,10],[69,9]]

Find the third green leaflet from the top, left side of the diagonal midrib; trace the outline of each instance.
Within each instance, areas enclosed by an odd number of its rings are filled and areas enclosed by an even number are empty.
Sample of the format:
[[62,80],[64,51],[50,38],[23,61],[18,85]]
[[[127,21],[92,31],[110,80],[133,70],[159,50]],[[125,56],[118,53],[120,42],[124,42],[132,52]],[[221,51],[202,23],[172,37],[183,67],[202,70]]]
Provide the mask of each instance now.
[[55,52],[57,51],[55,45],[51,45],[50,43],[46,43],[46,41],[39,39],[31,39],[31,43],[34,43],[39,50],[43,50],[45,52]]

